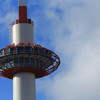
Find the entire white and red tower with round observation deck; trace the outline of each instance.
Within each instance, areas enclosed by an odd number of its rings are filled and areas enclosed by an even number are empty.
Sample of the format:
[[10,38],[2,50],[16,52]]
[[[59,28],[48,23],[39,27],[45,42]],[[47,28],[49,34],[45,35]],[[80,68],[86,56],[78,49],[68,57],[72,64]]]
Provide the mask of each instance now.
[[34,44],[34,23],[27,17],[27,1],[18,0],[19,17],[11,26],[11,45],[0,50],[0,76],[13,79],[13,100],[36,100],[35,79],[54,72],[59,57]]

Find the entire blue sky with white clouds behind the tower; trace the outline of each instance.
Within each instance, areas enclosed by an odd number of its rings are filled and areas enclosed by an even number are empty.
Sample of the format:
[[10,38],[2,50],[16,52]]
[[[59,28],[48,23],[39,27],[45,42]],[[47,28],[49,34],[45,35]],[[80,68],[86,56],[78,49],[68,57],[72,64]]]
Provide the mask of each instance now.
[[[0,4],[3,48],[10,44],[17,0]],[[29,0],[28,8],[35,43],[61,58],[56,72],[36,80],[37,100],[100,100],[100,0]],[[12,80],[0,77],[0,100],[12,100]]]

